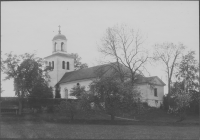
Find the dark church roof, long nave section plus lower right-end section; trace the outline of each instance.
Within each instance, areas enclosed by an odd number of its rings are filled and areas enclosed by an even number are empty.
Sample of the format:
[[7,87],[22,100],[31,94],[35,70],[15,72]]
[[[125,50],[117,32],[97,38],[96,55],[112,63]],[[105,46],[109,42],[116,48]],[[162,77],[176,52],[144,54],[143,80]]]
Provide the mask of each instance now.
[[[112,64],[115,64],[115,63],[112,63]],[[61,83],[67,83],[67,82],[72,82],[72,81],[77,81],[77,80],[97,78],[98,77],[97,73],[102,70],[101,68],[103,68],[104,70],[103,72],[104,76],[109,76],[114,71],[114,69],[112,69],[113,66],[114,65],[106,64],[106,65],[99,65],[99,66],[94,66],[90,68],[84,68],[77,71],[66,72],[58,83],[61,84]],[[123,72],[127,73],[128,69],[123,67]],[[155,83],[155,79],[158,79],[159,83]],[[157,84],[161,86],[165,85],[165,83],[157,76],[153,76],[153,77],[138,76],[136,83],[137,84],[143,84],[143,83]]]

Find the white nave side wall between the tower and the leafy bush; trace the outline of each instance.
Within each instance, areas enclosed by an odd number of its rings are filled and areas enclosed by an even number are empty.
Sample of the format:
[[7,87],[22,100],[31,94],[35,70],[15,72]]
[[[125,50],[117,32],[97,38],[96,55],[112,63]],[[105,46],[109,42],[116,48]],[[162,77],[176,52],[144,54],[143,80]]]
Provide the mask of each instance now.
[[60,94],[61,98],[65,98],[65,89],[68,89],[68,98],[74,98],[74,96],[70,96],[70,91],[71,89],[77,85],[77,83],[80,84],[80,86],[85,86],[85,90],[89,90],[89,85],[92,83],[93,80],[91,79],[85,79],[85,80],[77,80],[73,82],[68,82],[68,83],[62,83],[60,84]]

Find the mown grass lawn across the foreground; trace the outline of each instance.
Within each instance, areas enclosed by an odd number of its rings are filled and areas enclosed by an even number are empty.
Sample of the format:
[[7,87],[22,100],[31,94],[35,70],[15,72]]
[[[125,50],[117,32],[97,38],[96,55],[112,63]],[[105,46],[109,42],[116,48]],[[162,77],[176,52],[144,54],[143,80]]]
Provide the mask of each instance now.
[[[48,115],[48,114],[46,114]],[[47,118],[47,116],[44,116]],[[109,117],[108,117],[109,119]],[[199,125],[155,125],[148,122],[116,121],[100,123],[54,121],[31,116],[2,116],[1,138],[76,138],[76,139],[198,139]],[[104,122],[105,124],[103,124]],[[121,122],[121,123],[119,123]],[[129,123],[130,125],[126,125]],[[123,125],[122,125],[123,124]]]

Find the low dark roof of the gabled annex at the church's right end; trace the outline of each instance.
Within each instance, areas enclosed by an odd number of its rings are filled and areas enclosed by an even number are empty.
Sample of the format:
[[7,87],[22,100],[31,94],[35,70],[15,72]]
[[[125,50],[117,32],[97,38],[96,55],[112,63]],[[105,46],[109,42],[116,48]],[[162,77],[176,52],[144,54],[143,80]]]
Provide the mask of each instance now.
[[[161,84],[155,83],[154,79],[158,79]],[[139,76],[138,79],[136,79],[137,84],[143,84],[143,83],[148,83],[148,84],[156,84],[156,85],[163,85],[165,86],[166,84],[158,77],[158,76],[152,76],[152,77],[142,77]]]

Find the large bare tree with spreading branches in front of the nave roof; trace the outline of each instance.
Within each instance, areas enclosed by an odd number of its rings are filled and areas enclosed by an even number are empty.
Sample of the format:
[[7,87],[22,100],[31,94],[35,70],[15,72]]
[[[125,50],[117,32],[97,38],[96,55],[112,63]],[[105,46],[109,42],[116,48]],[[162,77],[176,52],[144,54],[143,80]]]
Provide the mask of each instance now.
[[131,83],[134,85],[136,75],[142,74],[145,69],[144,64],[149,58],[147,51],[142,48],[144,38],[140,32],[125,25],[115,26],[106,30],[101,41],[102,47],[99,48],[99,51],[109,60],[116,62],[111,64],[115,65],[113,68],[120,74],[121,81],[123,82],[124,76],[127,74],[126,70],[128,70],[129,76],[131,75]]

